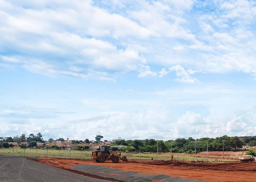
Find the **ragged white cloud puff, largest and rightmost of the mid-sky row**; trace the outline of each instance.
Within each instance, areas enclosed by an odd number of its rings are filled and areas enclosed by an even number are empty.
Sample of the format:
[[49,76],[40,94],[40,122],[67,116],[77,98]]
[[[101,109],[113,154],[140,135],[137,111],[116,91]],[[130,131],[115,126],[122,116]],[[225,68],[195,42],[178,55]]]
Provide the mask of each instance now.
[[175,71],[177,78],[175,79],[177,82],[181,83],[195,83],[197,81],[196,78],[192,78],[188,72],[185,71],[183,67],[180,65],[176,65],[169,68],[170,71]]

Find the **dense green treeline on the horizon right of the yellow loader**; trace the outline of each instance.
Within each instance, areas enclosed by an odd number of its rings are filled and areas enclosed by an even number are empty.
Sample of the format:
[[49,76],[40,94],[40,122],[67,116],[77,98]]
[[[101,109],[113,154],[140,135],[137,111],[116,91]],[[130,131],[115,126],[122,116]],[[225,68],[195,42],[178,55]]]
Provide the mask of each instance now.
[[254,137],[228,137],[224,135],[216,138],[200,138],[193,139],[189,137],[177,138],[176,140],[155,140],[155,139],[144,139],[144,140],[119,140],[114,142],[114,145],[124,145],[120,148],[121,151],[144,151],[144,152],[173,152],[173,153],[196,153],[199,151],[222,151],[223,145],[225,151],[240,150],[242,146],[256,146],[256,136]]

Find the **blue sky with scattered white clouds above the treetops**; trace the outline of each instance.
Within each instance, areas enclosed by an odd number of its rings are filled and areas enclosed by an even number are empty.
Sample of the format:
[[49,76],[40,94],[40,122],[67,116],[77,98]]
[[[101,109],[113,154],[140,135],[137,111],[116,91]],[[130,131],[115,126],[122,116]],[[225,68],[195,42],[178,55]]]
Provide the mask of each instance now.
[[256,135],[256,1],[0,0],[0,136]]

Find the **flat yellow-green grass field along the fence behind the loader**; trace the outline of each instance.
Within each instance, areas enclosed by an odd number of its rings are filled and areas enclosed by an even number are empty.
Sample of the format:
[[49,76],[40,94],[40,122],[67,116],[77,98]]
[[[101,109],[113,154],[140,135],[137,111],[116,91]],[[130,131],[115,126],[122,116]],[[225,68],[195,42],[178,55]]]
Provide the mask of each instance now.
[[[15,155],[15,156],[25,156],[25,157],[53,157],[53,158],[74,158],[74,159],[90,159],[91,151],[76,151],[76,150],[42,150],[42,149],[20,149],[20,148],[10,148],[10,149],[0,149],[0,155]],[[169,161],[171,155],[173,155],[173,160],[175,161],[208,161],[208,162],[218,162],[218,161],[237,161],[237,158],[220,156],[205,156],[197,155],[196,157],[191,154],[177,154],[177,153],[122,153],[128,160],[161,160]]]

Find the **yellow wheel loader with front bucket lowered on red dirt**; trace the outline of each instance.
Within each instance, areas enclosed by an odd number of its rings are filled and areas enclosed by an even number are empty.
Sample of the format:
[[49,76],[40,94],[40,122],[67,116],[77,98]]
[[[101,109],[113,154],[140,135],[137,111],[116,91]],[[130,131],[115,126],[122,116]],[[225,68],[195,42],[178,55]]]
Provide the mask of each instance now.
[[118,154],[115,151],[110,151],[110,146],[100,146],[99,149],[91,153],[91,158],[96,162],[105,162],[111,160],[113,163],[117,163],[119,159],[127,161],[126,156],[121,157],[121,152]]

